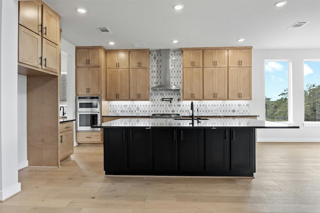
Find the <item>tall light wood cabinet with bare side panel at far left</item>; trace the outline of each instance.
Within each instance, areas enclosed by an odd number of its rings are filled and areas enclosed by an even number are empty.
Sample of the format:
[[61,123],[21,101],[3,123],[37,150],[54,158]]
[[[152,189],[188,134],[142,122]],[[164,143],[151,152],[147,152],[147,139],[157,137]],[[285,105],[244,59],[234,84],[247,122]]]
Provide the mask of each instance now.
[[41,0],[19,1],[18,74],[27,76],[29,166],[60,166],[60,15]]

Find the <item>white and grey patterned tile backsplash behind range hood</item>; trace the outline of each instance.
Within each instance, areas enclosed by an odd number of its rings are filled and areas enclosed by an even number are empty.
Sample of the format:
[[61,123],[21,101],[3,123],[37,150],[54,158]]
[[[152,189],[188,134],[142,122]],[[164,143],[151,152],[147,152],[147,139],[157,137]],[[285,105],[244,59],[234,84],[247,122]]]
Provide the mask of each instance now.
[[[182,101],[182,51],[170,51],[171,84],[181,90],[151,90],[150,101],[109,101],[109,115],[148,116],[152,113],[188,115],[191,101]],[[150,87],[161,82],[161,52],[150,53]],[[172,102],[162,101],[172,98]],[[193,101],[199,115],[248,115],[249,101]]]

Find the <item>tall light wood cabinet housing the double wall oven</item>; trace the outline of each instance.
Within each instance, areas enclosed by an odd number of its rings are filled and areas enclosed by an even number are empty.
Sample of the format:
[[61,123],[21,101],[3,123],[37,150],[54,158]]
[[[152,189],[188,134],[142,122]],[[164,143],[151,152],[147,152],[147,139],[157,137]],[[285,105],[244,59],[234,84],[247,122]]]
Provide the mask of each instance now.
[[[102,46],[76,46],[75,55],[76,95],[101,96],[101,116],[108,108],[105,88],[105,49]],[[102,143],[101,131],[76,131],[76,142]]]

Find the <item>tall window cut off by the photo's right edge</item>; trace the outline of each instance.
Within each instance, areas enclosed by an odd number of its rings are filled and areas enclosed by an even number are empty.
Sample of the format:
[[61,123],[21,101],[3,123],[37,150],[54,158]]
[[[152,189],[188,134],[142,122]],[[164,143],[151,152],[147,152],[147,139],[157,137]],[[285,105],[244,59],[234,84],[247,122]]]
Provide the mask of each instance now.
[[320,121],[320,59],[304,60],[304,121]]

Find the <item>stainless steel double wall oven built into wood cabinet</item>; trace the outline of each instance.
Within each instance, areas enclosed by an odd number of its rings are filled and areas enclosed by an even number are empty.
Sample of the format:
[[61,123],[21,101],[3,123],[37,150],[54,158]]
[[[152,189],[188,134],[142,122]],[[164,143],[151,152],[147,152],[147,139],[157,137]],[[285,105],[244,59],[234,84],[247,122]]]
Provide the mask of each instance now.
[[100,96],[77,96],[76,130],[100,131],[100,128],[91,128],[91,126],[101,123],[100,108]]

